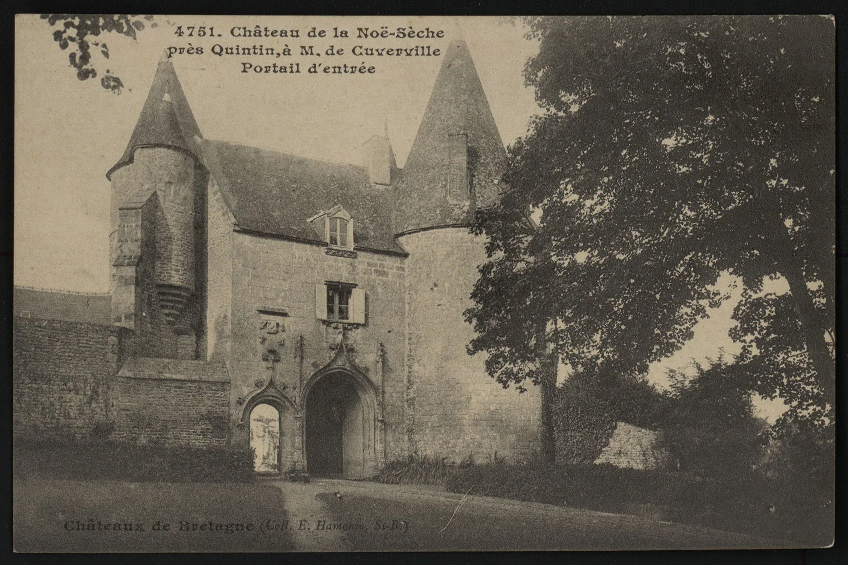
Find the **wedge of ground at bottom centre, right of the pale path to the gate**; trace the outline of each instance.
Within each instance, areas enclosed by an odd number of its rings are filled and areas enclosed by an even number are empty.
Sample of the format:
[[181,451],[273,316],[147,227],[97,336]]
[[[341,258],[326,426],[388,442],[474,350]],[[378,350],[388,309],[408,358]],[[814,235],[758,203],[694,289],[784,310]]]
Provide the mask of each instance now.
[[[431,495],[432,491],[404,496],[380,492],[393,488],[402,487],[375,485],[373,494],[349,492],[343,501],[327,492],[318,500],[330,509],[333,520],[368,528],[343,533],[353,551],[659,550],[767,543],[717,530],[503,501],[473,492],[461,504],[461,496]],[[386,529],[377,529],[378,522]]]

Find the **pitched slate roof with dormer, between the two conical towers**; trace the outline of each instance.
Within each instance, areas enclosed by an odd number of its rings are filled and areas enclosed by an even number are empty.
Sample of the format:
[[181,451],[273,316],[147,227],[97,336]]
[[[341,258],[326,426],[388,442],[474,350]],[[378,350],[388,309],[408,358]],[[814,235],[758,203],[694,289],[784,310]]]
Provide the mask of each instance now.
[[307,220],[341,205],[353,217],[357,248],[404,253],[393,237],[391,199],[371,187],[365,167],[210,140],[203,151],[237,227],[323,243]]

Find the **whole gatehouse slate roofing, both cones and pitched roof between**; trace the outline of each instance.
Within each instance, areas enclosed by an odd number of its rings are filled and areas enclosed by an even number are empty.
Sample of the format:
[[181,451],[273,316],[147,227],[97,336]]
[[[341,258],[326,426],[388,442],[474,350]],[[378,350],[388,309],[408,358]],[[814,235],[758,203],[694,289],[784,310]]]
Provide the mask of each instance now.
[[[471,207],[448,202],[448,136],[466,133],[474,165]],[[212,174],[237,227],[323,242],[306,222],[342,204],[354,218],[359,249],[404,253],[394,236],[419,227],[468,223],[474,204],[497,197],[506,154],[466,43],[450,42],[407,166],[394,187],[371,185],[359,165],[308,159],[237,143],[204,140],[168,59],[159,61],[130,143],[107,177],[132,161],[136,148],[172,147],[194,155]],[[404,253],[405,255],[405,253]]]

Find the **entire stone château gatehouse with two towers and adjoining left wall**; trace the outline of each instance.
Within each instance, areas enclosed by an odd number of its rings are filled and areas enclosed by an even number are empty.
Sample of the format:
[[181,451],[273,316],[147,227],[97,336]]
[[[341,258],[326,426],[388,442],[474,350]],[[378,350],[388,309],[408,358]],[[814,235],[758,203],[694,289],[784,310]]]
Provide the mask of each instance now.
[[485,260],[468,226],[506,154],[464,41],[444,49],[404,169],[388,134],[362,152],[206,139],[159,62],[106,174],[109,294],[16,289],[15,434],[253,445],[258,471],[345,478],[416,450],[538,450],[538,391],[466,353]]

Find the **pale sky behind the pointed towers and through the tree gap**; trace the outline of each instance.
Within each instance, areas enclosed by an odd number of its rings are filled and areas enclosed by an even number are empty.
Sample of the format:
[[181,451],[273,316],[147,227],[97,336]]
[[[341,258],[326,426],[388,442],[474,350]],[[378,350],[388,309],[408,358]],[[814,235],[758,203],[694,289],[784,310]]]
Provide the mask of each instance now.
[[[398,165],[403,166],[427,106],[441,57],[354,57],[350,49],[444,47],[450,37],[464,36],[483,83],[495,123],[505,144],[527,131],[538,113],[533,89],[525,87],[522,70],[538,43],[524,37],[520,22],[506,18],[409,17],[282,17],[157,16],[156,28],[138,33],[137,41],[104,34],[109,60],[92,50],[98,70],[108,68],[126,88],[115,95],[99,80],[78,81],[67,52],[52,39],[52,28],[36,15],[15,21],[14,138],[14,283],[75,292],[109,289],[109,182],[105,173],[120,158],[153,81],[156,64],[167,48],[203,48],[202,54],[174,53],[183,91],[205,138],[277,149],[316,159],[360,163],[362,143],[388,126]],[[299,37],[234,37],[231,29],[256,25],[269,30],[298,30]],[[395,31],[444,31],[439,38],[358,39],[357,28]],[[200,26],[214,37],[188,37]],[[324,30],[324,37],[308,32]],[[349,37],[333,37],[333,28]],[[177,36],[178,28],[183,36]],[[207,31],[208,34],[208,31]],[[219,36],[220,35],[220,36]],[[278,34],[279,35],[279,34]],[[263,45],[290,57],[217,56],[213,47]],[[299,46],[312,45],[324,58],[300,56]],[[330,46],[348,50],[328,58]],[[217,49],[215,49],[217,50]],[[173,51],[173,50],[171,50]],[[375,67],[365,75],[310,75],[313,62]],[[301,74],[243,73],[242,62],[299,62]],[[729,289],[729,277],[722,285]],[[728,338],[729,316],[739,289],[722,308],[695,327],[695,337],[667,360],[651,367],[649,378],[666,383],[668,368],[684,368],[691,360],[715,358],[739,348]],[[757,401],[772,419],[779,403]]]

